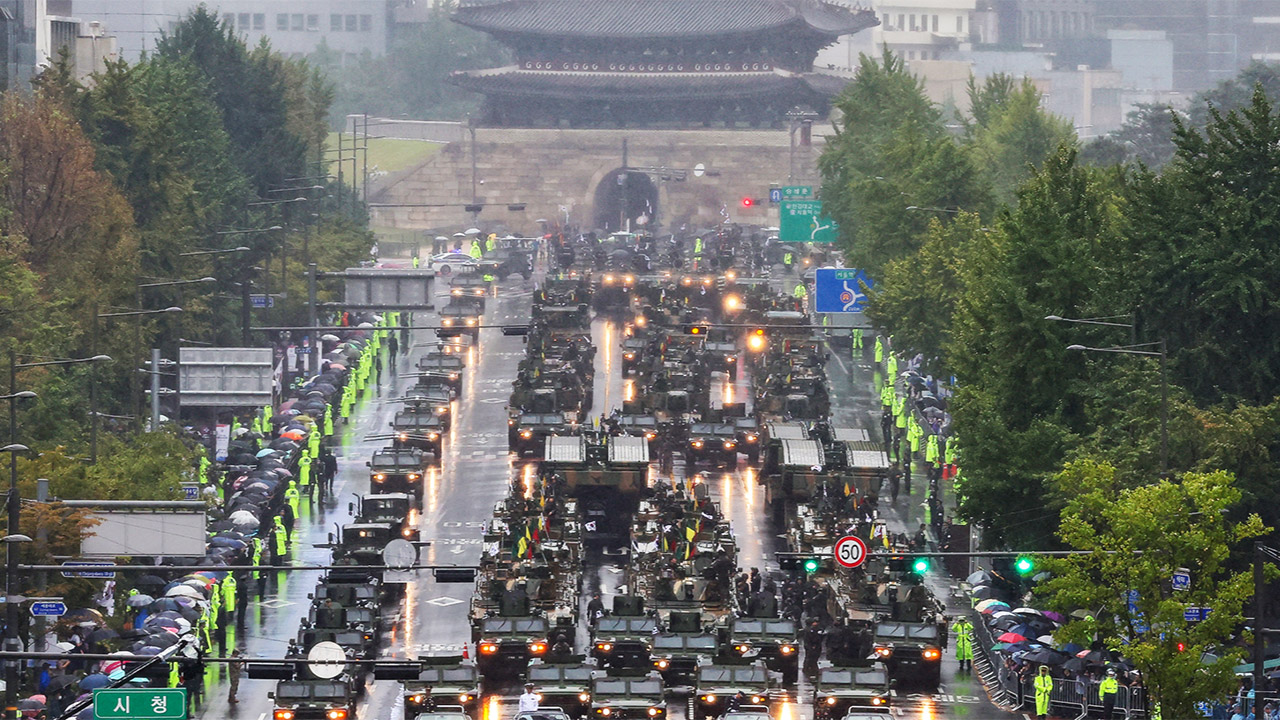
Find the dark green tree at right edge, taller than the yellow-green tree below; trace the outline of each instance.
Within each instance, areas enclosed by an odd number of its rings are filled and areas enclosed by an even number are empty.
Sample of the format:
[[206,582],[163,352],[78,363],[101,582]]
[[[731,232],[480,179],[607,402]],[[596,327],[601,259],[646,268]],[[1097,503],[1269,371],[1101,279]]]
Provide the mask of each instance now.
[[1172,378],[1204,404],[1268,402],[1280,382],[1280,115],[1262,90],[1243,110],[1181,126],[1160,176],[1129,184],[1116,269],[1143,336],[1164,337]]

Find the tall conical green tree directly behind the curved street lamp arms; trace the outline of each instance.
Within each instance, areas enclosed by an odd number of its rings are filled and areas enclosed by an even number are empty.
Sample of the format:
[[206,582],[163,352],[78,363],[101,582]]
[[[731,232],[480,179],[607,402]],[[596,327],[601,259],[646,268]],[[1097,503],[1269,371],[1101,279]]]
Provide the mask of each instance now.
[[1108,314],[1094,309],[1108,304],[1102,265],[1119,243],[1112,179],[1075,160],[1074,149],[1060,149],[1019,190],[1016,208],[969,240],[947,350],[963,380],[952,407],[960,510],[995,538],[1032,547],[1043,547],[1048,525],[1011,525],[1006,514],[1044,506],[1044,479],[1092,429],[1079,392],[1097,382],[1066,351],[1079,342],[1074,328],[1044,316]]

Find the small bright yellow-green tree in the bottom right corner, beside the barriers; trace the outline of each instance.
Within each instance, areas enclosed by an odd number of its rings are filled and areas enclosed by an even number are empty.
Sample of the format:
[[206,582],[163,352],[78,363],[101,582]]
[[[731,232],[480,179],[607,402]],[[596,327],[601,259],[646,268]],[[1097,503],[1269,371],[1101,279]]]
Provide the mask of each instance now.
[[[1119,489],[1110,465],[1080,460],[1055,482],[1069,497],[1059,534],[1087,553],[1050,560],[1052,578],[1036,592],[1055,610],[1097,610],[1093,621],[1071,621],[1055,637],[1085,644],[1098,637],[1124,652],[1165,717],[1193,717],[1197,702],[1230,693],[1243,650],[1226,638],[1244,623],[1253,588],[1249,574],[1231,573],[1226,561],[1234,547],[1267,532],[1257,515],[1225,518],[1240,501],[1231,475],[1189,473]],[[1169,587],[1179,568],[1190,570],[1189,591]],[[1187,607],[1213,612],[1188,623]],[[1216,659],[1206,662],[1206,652]]]

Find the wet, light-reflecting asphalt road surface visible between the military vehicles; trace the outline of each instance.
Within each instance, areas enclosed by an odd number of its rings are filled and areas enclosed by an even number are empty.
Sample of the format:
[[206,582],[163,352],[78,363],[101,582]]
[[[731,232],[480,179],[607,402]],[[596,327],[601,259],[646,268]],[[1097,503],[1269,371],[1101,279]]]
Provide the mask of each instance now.
[[[442,286],[444,283],[440,283]],[[532,283],[518,277],[508,279],[489,297],[485,324],[518,323],[529,319],[532,297]],[[438,305],[443,304],[442,297]],[[430,320],[431,314],[420,313],[416,322]],[[618,343],[621,325],[614,320],[596,319],[593,323],[593,336],[598,347],[595,360],[595,405],[591,414],[608,413],[621,405],[631,388],[621,378]],[[365,400],[348,427],[342,428],[340,446],[335,448],[339,459],[339,475],[334,484],[334,500],[324,506],[303,502],[301,516],[296,525],[293,557],[297,562],[323,564],[329,560],[329,550],[323,546],[329,541],[329,533],[335,527],[348,521],[348,503],[356,495],[369,491],[369,473],[365,461],[383,447],[385,442],[376,438],[385,433],[392,415],[399,407],[393,398],[403,393],[413,383],[406,377],[412,373],[416,363],[429,346],[436,342],[429,331],[415,331],[412,346],[397,359],[397,374],[383,373],[380,396]],[[424,500],[419,518],[421,539],[428,542],[421,551],[424,564],[474,564],[480,557],[480,534],[484,521],[492,515],[495,502],[506,493],[509,478],[531,471],[529,462],[515,462],[507,455],[506,442],[506,404],[511,392],[511,380],[516,365],[524,356],[525,346],[520,337],[504,337],[498,332],[483,333],[479,345],[466,351],[466,373],[460,400],[454,404],[454,420],[445,447],[444,461],[433,466],[425,475]],[[833,352],[828,372],[833,393],[833,414],[842,424],[878,428],[878,396],[867,359],[852,359]],[[723,380],[722,380],[723,382]],[[749,395],[750,380],[739,378],[730,386],[723,383],[723,393],[732,393],[741,400]],[[874,415],[873,415],[874,413]],[[676,462],[676,475],[682,477],[684,466]],[[772,553],[782,548],[778,537],[781,529],[772,525],[763,511],[764,493],[756,486],[751,469],[740,464],[733,470],[712,473],[710,488],[721,502],[723,512],[732,523],[740,548],[742,568],[776,568]],[[916,502],[904,496],[899,503],[887,511],[893,530],[906,532],[919,524],[922,510],[919,495],[911,496]],[[306,615],[310,603],[307,593],[312,592],[319,571],[279,571],[269,578],[265,594],[260,600],[251,597],[247,605],[244,628],[238,630],[232,642],[243,648],[248,659],[282,657],[288,639],[294,637],[300,620]],[[946,597],[947,584],[931,578],[934,592]],[[621,592],[626,583],[623,561],[611,553],[611,548],[590,551],[584,568],[584,603],[590,593],[599,589],[609,605],[609,594]],[[428,571],[422,571],[410,584],[406,601],[394,609],[384,626],[389,628],[381,647],[384,657],[412,657],[422,652],[461,652],[470,639],[467,607],[472,594],[470,584],[436,584]],[[580,638],[581,639],[581,638]],[[474,648],[472,648],[474,650]],[[239,702],[227,702],[228,685],[220,674],[223,670],[210,670],[207,693],[197,716],[204,720],[230,717],[236,720],[268,720],[271,716],[271,701],[268,693],[274,689],[274,680],[242,679]],[[367,692],[357,707],[361,720],[398,720],[403,715],[399,700],[399,683],[370,679]],[[801,680],[792,700],[809,697],[810,689]],[[512,692],[494,696],[485,703],[483,720],[499,720],[513,714]],[[671,706],[673,719],[684,717],[684,702]],[[1018,715],[1007,714],[989,703],[980,683],[968,675],[957,674],[955,661],[947,656],[943,664],[943,684],[937,693],[927,696],[904,694],[895,698],[895,717],[932,719],[1002,719]],[[812,717],[805,702],[788,702],[774,712],[778,720],[804,720]]]

